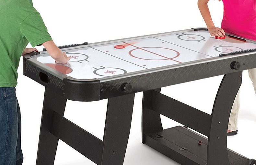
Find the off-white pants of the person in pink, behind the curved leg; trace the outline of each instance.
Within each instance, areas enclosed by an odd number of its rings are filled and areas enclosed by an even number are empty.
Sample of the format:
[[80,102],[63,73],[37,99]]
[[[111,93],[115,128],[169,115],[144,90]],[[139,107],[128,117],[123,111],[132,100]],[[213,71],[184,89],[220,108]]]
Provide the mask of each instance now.
[[[255,94],[256,94],[256,68],[249,69],[248,72],[249,72],[249,77],[252,81]],[[239,106],[240,105],[239,105],[239,92],[238,92],[231,110],[230,117],[229,117],[228,130],[230,131],[238,130],[237,119],[238,119],[238,113],[239,113]]]

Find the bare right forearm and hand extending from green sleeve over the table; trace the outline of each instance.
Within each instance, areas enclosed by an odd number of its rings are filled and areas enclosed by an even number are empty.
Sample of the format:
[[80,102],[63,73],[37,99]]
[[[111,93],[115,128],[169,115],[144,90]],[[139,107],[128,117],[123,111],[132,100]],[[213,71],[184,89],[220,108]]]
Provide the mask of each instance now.
[[67,57],[66,53],[62,52],[53,41],[47,41],[42,43],[50,56],[59,64],[65,64],[71,57]]

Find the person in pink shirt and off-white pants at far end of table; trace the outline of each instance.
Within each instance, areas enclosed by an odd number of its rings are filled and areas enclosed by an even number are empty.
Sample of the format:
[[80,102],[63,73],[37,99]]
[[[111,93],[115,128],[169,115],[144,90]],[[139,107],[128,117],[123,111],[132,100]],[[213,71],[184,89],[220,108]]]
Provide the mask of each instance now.
[[[220,1],[220,0],[219,0]],[[211,36],[223,37],[225,32],[256,41],[256,0],[222,0],[224,14],[221,28],[215,27],[208,8],[209,0],[198,0],[199,10],[204,18]],[[256,68],[250,69],[249,77],[256,93]],[[238,132],[239,93],[234,101],[227,135]]]

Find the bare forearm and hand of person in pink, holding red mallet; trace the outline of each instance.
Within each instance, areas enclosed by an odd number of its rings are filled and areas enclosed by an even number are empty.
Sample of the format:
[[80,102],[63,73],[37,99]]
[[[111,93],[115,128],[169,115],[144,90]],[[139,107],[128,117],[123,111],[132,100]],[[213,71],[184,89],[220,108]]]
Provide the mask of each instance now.
[[214,26],[214,23],[207,5],[208,2],[209,0],[198,0],[198,3],[197,3],[198,8],[204,18],[204,21],[207,25],[207,28],[211,36],[223,37],[225,35],[224,30]]

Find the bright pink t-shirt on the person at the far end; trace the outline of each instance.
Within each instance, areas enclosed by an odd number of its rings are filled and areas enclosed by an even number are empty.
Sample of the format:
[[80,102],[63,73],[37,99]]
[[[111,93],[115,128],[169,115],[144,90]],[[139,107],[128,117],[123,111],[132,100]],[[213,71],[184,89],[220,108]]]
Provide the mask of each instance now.
[[256,0],[222,0],[225,32],[256,40]]

